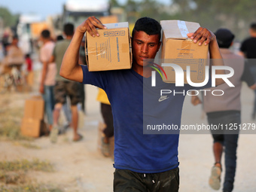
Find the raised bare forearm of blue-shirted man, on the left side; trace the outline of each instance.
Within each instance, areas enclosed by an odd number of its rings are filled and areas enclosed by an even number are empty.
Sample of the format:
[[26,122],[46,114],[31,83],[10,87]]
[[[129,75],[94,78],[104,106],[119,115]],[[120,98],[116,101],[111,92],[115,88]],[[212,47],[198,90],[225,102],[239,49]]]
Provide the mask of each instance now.
[[61,75],[63,78],[78,82],[83,81],[81,78],[82,75],[74,75],[76,73],[81,73],[81,66],[78,65],[78,58],[79,47],[83,36],[84,33],[76,31],[65,55],[63,56],[62,65],[59,71],[59,75]]

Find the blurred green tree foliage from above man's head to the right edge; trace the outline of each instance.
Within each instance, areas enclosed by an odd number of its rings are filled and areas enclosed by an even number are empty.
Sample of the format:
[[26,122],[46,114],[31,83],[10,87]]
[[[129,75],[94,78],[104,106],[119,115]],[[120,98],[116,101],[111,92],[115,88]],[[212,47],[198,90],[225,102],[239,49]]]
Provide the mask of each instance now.
[[213,32],[221,27],[230,29],[239,40],[248,35],[251,22],[256,22],[255,8],[254,0],[169,0],[169,5],[156,0],[127,0],[123,6],[129,22],[145,16],[193,21]]

